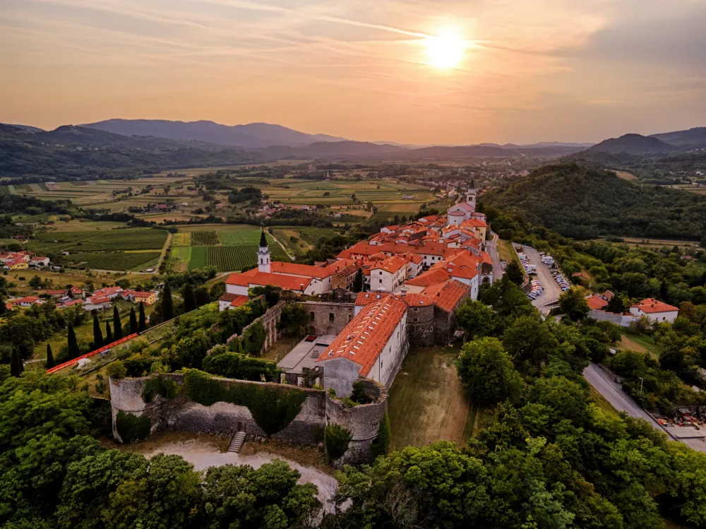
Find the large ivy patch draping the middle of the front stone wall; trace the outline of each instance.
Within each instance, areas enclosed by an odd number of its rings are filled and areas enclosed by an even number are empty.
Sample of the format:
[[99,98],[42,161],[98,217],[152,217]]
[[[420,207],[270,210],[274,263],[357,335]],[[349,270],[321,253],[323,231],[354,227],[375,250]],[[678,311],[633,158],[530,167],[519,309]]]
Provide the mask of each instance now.
[[289,426],[301,411],[306,392],[286,386],[224,384],[198,369],[184,369],[186,396],[195,403],[210,406],[217,402],[248,408],[253,420],[268,435]]

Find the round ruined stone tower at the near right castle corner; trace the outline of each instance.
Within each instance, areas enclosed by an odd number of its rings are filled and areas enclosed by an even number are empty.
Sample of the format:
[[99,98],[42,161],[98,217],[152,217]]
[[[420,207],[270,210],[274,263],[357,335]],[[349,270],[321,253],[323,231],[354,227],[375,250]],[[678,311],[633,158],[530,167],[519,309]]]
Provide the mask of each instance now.
[[371,404],[346,408],[340,400],[326,396],[326,422],[337,424],[352,434],[348,450],[333,462],[336,468],[343,465],[371,463],[370,445],[378,436],[378,428],[388,410],[387,392],[382,384],[360,379],[365,393],[376,398]]

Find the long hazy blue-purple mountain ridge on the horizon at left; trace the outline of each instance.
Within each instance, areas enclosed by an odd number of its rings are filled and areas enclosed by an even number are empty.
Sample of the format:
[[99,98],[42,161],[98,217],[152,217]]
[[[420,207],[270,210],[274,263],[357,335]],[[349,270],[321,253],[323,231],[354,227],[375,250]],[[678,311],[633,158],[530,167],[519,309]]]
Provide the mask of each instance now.
[[289,147],[309,145],[318,141],[342,141],[326,134],[307,134],[267,123],[227,126],[213,121],[167,121],[164,119],[107,119],[83,125],[91,129],[124,134],[125,136],[158,136],[173,140],[198,140],[244,148],[272,145]]

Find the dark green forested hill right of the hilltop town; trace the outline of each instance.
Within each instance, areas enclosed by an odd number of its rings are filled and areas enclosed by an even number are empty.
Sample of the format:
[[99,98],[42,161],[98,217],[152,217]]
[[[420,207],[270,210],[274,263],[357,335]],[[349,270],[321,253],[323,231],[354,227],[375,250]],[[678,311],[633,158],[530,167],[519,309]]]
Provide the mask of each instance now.
[[703,239],[706,197],[641,185],[576,163],[547,165],[482,198],[566,237],[597,235]]

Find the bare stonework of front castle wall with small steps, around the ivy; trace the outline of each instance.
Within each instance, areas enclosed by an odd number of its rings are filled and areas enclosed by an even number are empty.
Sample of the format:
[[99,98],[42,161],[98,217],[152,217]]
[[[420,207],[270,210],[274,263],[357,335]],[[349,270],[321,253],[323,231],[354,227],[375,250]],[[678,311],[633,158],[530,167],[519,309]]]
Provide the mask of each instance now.
[[[167,374],[181,386],[184,376]],[[217,377],[214,377],[217,378]],[[245,429],[248,438],[265,436],[265,432],[253,420],[248,408],[231,403],[218,402],[210,406],[193,403],[183,394],[176,398],[165,399],[155,396],[152,402],[146,404],[142,400],[142,392],[150,376],[139,379],[110,379],[110,404],[113,417],[113,435],[121,441],[115,427],[118,412],[129,412],[134,415],[148,415],[152,421],[152,432],[161,429],[178,432],[196,432],[229,436],[237,429]],[[226,386],[233,384],[259,384],[263,386],[279,386],[265,382],[251,382],[233,379],[218,379]],[[289,386],[285,386],[289,387]],[[272,437],[287,439],[301,444],[317,444],[325,427],[325,397],[322,390],[299,388],[306,392],[306,400],[301,410],[289,425]]]

